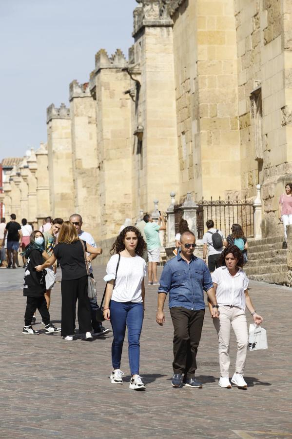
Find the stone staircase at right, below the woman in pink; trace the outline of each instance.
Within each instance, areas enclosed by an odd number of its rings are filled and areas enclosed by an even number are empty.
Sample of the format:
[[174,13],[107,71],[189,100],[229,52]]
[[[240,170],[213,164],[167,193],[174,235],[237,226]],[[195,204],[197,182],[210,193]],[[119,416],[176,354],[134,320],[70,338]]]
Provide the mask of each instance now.
[[249,279],[289,285],[287,250],[282,249],[282,236],[249,240],[248,263],[244,271]]

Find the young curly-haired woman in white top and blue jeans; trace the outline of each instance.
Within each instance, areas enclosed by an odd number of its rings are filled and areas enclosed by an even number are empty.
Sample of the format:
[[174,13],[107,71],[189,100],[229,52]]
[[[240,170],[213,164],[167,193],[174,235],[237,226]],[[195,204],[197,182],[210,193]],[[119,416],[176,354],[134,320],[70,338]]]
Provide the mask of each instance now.
[[142,259],[146,243],[136,227],[125,227],[118,235],[111,252],[104,280],[107,287],[103,315],[111,320],[114,339],[112,344],[113,384],[123,384],[120,370],[123,342],[128,328],[130,389],[144,390],[139,376],[140,334],[144,318],[146,262]]

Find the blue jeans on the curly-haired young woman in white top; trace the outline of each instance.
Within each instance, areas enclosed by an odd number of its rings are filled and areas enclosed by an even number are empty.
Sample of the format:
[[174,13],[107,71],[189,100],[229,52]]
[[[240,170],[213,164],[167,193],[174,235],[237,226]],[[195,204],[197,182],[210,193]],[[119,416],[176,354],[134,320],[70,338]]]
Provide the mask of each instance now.
[[144,317],[143,303],[111,300],[111,323],[114,333],[112,344],[113,368],[120,368],[126,327],[128,328],[129,363],[131,375],[139,375],[140,335]]

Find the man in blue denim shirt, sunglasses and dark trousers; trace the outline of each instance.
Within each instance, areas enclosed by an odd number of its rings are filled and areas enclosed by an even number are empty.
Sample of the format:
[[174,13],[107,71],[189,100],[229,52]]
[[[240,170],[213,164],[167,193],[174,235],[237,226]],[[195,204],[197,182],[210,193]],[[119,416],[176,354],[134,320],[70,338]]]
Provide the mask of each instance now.
[[205,315],[204,292],[214,308],[213,317],[219,316],[214,287],[207,265],[193,255],[195,235],[192,232],[181,234],[180,251],[168,261],[162,271],[158,288],[158,308],[156,321],[165,322],[163,306],[169,294],[170,314],[174,325],[174,376],[173,387],[184,384],[192,388],[201,388],[195,379],[196,353],[201,338]]

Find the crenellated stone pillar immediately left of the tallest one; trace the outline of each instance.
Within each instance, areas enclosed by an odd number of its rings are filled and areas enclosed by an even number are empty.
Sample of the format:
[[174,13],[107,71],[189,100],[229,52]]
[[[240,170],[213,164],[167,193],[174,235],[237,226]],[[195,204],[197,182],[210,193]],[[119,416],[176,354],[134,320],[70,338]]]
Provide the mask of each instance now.
[[116,236],[125,218],[133,219],[131,99],[124,94],[129,89],[130,77],[126,67],[127,61],[119,49],[111,57],[101,49],[90,82],[97,105],[102,239]]

